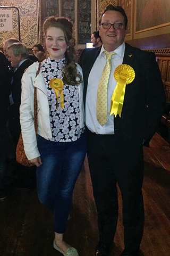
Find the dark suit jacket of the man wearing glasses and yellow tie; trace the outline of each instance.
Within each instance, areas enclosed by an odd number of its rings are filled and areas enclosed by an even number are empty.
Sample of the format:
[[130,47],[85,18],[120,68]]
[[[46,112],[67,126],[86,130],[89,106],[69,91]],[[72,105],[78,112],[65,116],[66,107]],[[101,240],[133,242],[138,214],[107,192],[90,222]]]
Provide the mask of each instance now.
[[[80,56],[84,101],[89,73],[100,49],[101,47],[84,49]],[[155,54],[125,44],[123,64],[134,69],[135,78],[131,84],[126,85],[121,118],[114,118],[115,135],[121,147],[127,151],[133,148],[135,153],[143,139],[149,143],[154,135],[164,109],[165,93]]]

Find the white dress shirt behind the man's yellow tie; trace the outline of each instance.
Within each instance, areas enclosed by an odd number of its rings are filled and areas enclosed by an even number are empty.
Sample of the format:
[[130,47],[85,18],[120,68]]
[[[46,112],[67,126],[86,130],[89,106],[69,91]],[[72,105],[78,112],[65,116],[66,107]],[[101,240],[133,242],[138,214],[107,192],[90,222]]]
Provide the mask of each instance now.
[[111,98],[116,87],[116,80],[114,79],[114,71],[118,65],[123,62],[125,51],[125,43],[115,49],[115,54],[112,56],[112,70],[109,77],[107,89],[107,117],[108,121],[104,126],[101,126],[96,117],[96,101],[97,89],[101,73],[106,64],[106,55],[103,53],[104,47],[101,47],[100,54],[98,55],[88,78],[87,96],[86,96],[86,125],[92,133],[96,134],[114,134],[114,115],[110,115]]

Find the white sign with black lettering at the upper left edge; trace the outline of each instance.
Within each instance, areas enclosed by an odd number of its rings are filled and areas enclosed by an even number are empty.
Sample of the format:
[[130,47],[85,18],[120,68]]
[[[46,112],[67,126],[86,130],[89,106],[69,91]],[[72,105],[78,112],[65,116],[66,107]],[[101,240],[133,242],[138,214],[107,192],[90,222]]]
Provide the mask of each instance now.
[[12,30],[12,10],[0,9],[0,31]]

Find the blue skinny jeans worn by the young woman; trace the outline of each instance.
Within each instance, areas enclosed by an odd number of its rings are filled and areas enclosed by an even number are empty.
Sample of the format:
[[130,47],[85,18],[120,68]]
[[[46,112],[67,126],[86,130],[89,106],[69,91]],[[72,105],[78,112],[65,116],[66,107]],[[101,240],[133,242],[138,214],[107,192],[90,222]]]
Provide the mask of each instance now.
[[37,168],[39,201],[54,214],[54,231],[63,234],[75,182],[86,156],[86,134],[74,142],[52,142],[38,136],[41,164]]

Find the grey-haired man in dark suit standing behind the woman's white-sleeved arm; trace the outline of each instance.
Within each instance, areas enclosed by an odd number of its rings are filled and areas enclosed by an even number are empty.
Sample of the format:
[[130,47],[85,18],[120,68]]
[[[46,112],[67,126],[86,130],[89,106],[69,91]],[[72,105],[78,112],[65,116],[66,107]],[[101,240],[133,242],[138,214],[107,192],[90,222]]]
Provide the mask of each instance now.
[[[12,135],[14,145],[18,143],[21,134],[20,126],[20,104],[21,104],[21,78],[22,75],[33,62],[29,59],[28,50],[22,43],[13,43],[7,47],[8,61],[11,62],[13,68],[10,107],[8,109],[8,129]],[[15,186],[31,188],[35,186],[35,168],[24,167],[16,163],[16,171],[18,172],[18,181]]]

